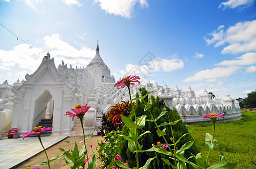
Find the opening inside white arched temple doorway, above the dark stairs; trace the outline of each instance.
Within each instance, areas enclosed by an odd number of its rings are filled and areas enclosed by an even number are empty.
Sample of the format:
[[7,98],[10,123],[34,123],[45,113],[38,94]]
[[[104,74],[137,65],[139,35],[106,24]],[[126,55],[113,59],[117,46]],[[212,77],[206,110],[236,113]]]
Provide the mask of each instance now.
[[33,124],[32,128],[36,127],[42,119],[51,119],[53,117],[54,100],[48,90],[45,90],[35,100],[34,112],[33,112]]

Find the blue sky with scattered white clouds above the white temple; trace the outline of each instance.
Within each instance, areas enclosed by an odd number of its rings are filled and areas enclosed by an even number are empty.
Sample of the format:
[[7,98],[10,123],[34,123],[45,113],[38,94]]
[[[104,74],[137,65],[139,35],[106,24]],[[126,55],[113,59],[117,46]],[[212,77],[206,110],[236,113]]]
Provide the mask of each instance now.
[[[256,89],[256,1],[0,0],[0,83],[24,79],[47,52],[56,66],[100,55],[118,80],[204,88],[232,98]],[[24,40],[26,43],[24,43]]]

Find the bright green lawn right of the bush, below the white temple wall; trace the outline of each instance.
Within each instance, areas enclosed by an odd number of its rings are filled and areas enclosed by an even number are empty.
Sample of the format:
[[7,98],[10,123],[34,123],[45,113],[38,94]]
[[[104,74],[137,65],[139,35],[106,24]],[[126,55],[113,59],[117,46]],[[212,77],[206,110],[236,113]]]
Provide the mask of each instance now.
[[[220,122],[215,124],[217,145],[210,154],[211,165],[219,163],[220,152],[229,162],[237,162],[236,168],[256,168],[256,112],[242,112],[240,121]],[[208,145],[204,143],[206,133],[212,135],[212,123],[190,124],[189,132],[194,137],[195,145],[207,157]]]

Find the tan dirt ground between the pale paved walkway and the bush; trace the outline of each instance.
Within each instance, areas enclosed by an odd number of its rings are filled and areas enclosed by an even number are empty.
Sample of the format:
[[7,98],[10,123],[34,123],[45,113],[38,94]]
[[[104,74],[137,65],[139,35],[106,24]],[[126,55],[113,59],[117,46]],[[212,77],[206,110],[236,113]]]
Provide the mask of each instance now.
[[[93,149],[94,152],[96,152],[97,140],[101,140],[101,139],[102,139],[101,136],[92,136],[91,139],[86,140],[86,145],[87,145],[87,150],[88,150],[88,157],[92,158],[92,156],[93,156],[92,149]],[[48,154],[49,159],[56,156],[56,155],[63,154],[61,152],[61,150],[59,150],[59,148],[63,148],[66,151],[69,150],[70,148],[74,149],[74,144],[66,143],[65,141],[71,141],[71,142],[76,141],[76,143],[79,143],[82,140],[83,140],[83,136],[67,137],[67,139],[62,140],[60,143],[46,149],[46,152]],[[42,143],[42,144],[44,144],[44,143]],[[91,149],[91,147],[89,147],[89,145],[92,145],[92,144],[93,144],[93,146],[92,146],[92,149]],[[80,150],[80,147],[83,146],[83,145],[84,145],[83,143],[78,144],[78,149]],[[22,169],[22,168],[25,168],[25,167],[28,167],[28,166],[35,165],[35,164],[40,163],[40,162],[45,161],[45,160],[46,160],[45,153],[41,152],[41,153],[37,154],[35,157],[29,159],[27,162],[24,162],[23,164],[21,164],[20,166],[18,166],[16,168]],[[100,161],[97,161],[97,166],[98,166],[98,168],[101,166]],[[52,169],[70,168],[69,166],[67,166],[65,160],[61,160],[61,159],[56,159],[55,161],[50,162],[50,167]],[[48,168],[48,165],[40,167],[40,169],[44,169],[44,168],[45,169]],[[86,165],[86,168],[87,168],[87,165]]]

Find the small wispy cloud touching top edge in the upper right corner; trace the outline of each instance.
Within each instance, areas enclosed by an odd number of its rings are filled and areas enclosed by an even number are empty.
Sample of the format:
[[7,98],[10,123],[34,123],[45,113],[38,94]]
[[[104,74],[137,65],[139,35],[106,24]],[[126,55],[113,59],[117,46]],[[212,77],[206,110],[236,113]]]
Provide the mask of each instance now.
[[221,8],[222,6],[224,7],[223,10],[225,10],[225,8],[236,8],[236,7],[250,7],[251,5],[253,5],[255,0],[229,0],[227,2],[222,2],[219,5],[219,8]]

